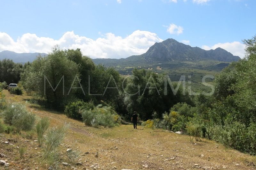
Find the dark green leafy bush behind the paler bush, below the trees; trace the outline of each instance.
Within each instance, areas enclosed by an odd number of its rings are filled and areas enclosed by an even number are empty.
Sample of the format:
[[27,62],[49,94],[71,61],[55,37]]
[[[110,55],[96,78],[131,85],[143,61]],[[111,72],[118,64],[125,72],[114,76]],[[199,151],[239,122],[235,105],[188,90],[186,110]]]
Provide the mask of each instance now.
[[94,104],[93,101],[89,102],[84,102],[82,100],[76,101],[76,102],[70,102],[68,105],[65,107],[65,115],[67,115],[69,118],[77,119],[77,120],[82,120],[82,115],[79,112],[79,110],[83,109],[93,109]]

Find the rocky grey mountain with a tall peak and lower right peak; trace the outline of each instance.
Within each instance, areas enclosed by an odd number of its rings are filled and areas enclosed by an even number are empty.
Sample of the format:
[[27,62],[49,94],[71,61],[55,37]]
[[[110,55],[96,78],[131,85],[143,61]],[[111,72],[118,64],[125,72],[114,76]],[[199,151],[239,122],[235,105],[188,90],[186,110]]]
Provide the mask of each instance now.
[[145,61],[167,62],[167,61],[195,61],[195,60],[217,60],[223,62],[238,61],[239,56],[234,56],[222,48],[215,50],[204,50],[199,47],[191,47],[174,39],[156,42],[145,54],[139,55]]

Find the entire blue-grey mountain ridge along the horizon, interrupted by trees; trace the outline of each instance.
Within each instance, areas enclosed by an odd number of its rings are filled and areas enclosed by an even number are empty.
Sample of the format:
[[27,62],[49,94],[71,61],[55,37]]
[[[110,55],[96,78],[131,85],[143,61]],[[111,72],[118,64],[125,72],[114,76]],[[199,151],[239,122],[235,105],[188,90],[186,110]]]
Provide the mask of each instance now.
[[[32,62],[38,55],[46,56],[46,53],[15,53],[12,51],[0,52],[0,60],[7,58],[12,59],[15,63]],[[239,56],[235,56],[223,48],[204,50],[199,47],[191,47],[172,38],[162,42],[156,42],[146,53],[141,55],[132,55],[127,58],[120,59],[92,59],[96,64],[105,62],[180,62],[180,61],[200,61],[200,60],[216,60],[222,62],[232,62],[240,60]]]

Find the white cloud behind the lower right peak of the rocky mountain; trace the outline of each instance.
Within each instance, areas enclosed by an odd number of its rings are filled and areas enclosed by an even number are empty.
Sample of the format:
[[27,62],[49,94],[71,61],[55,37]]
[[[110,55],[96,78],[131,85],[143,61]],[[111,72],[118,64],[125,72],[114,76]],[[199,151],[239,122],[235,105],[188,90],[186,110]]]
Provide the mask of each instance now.
[[210,49],[216,49],[216,48],[223,48],[227,50],[228,52],[232,53],[233,55],[237,55],[240,58],[244,58],[245,51],[244,51],[244,44],[234,41],[234,42],[226,42],[226,43],[218,43],[213,45],[212,47],[203,45],[202,48],[205,50],[210,50]]

